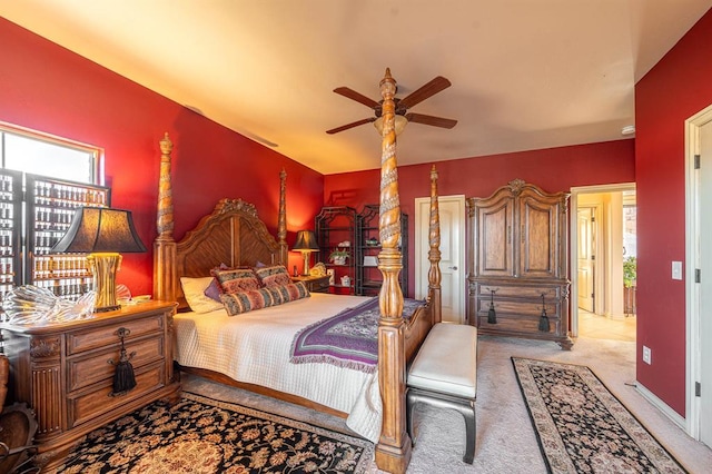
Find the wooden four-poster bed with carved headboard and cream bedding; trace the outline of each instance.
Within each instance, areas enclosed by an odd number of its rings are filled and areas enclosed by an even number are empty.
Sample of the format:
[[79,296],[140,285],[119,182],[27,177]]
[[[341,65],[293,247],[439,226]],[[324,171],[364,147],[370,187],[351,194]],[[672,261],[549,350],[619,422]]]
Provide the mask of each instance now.
[[[337,368],[327,364],[287,364],[288,367],[268,367],[264,362],[251,361],[249,367],[231,365],[234,361],[225,361],[210,365],[199,352],[199,345],[206,340],[208,319],[215,319],[216,324],[227,326],[241,326],[241,334],[250,332],[245,329],[250,320],[269,320],[273,323],[271,336],[284,330],[287,332],[288,323],[274,323],[278,318],[280,308],[286,309],[297,320],[303,318],[300,308],[319,304],[328,307],[338,300],[340,305],[354,306],[362,297],[317,295],[293,300],[283,306],[269,307],[256,312],[240,314],[234,317],[226,316],[225,310],[200,314],[199,317],[184,316],[178,313],[175,316],[177,336],[176,359],[180,369],[196,373],[220,383],[244,387],[257,393],[270,395],[280,399],[298,403],[312,408],[347,417],[355,417],[355,425],[369,433],[366,437],[376,442],[376,463],[383,471],[405,472],[411,458],[412,443],[406,432],[406,402],[405,376],[406,364],[415,356],[418,347],[425,339],[431,327],[441,322],[441,273],[439,273],[439,220],[437,206],[437,174],[435,168],[431,172],[431,223],[429,223],[429,251],[428,260],[428,296],[425,304],[419,306],[409,317],[404,318],[404,297],[398,285],[398,274],[402,266],[402,254],[398,248],[400,239],[400,207],[398,198],[398,179],[395,156],[394,131],[394,93],[395,81],[386,71],[386,77],[380,82],[383,102],[383,157],[380,172],[380,216],[379,237],[382,251],[378,256],[378,267],[384,275],[384,283],[378,296],[379,318],[377,319],[377,366],[370,373],[364,373],[349,368]],[[286,265],[286,174],[280,174],[279,187],[279,215],[277,239],[269,235],[267,227],[257,216],[255,207],[240,199],[222,199],[215,210],[204,217],[194,230],[190,230],[180,240],[172,236],[174,209],[170,186],[170,152],[172,144],[168,136],[160,144],[161,172],[158,203],[158,237],[154,244],[154,296],[157,299],[177,300],[180,308],[187,308],[186,294],[181,287],[181,278],[198,279],[211,275],[211,270],[219,265],[228,267],[256,267],[260,265]],[[406,256],[407,258],[407,256]],[[353,302],[350,299],[354,299]],[[342,303],[343,302],[343,303]],[[309,306],[312,307],[312,306]],[[296,308],[296,309],[295,309]],[[281,309],[284,313],[284,309]],[[334,308],[324,309],[319,318],[334,315]],[[219,315],[216,313],[220,313]],[[294,316],[296,315],[296,316]],[[304,320],[309,320],[304,316]],[[286,333],[285,333],[286,334]],[[212,336],[215,338],[229,338],[225,335]],[[231,336],[230,336],[231,337]],[[250,343],[243,336],[235,336],[238,354],[241,348]],[[251,340],[251,339],[250,339]],[[271,344],[284,346],[284,344]],[[249,347],[249,353],[255,350]],[[285,350],[284,347],[278,350]],[[243,353],[247,354],[247,353]],[[220,358],[212,355],[214,358]],[[284,358],[284,354],[273,354],[269,357]],[[236,356],[235,359],[240,358]],[[270,359],[271,361],[271,359]],[[250,375],[250,367],[255,364],[260,367],[258,372],[276,371],[270,379]],[[259,364],[263,364],[259,366]],[[306,366],[327,365],[327,376],[305,375]],[[215,368],[217,367],[217,368]],[[255,371],[253,371],[255,372]],[[326,377],[332,385],[324,387],[295,386],[291,382],[299,377],[322,381]],[[322,378],[320,378],[322,377]],[[257,382],[255,382],[257,381]],[[291,382],[289,382],[291,381]],[[344,394],[348,392],[348,385],[359,386],[360,393]],[[346,401],[334,401],[328,395],[322,396],[322,392],[344,392],[337,397],[346,397]],[[354,405],[352,413],[349,406]],[[363,407],[380,405],[374,413],[364,411]],[[358,409],[360,407],[360,411]],[[356,413],[359,412],[359,413]],[[379,412],[379,413],[378,413]],[[347,422],[348,424],[348,422]],[[352,426],[352,425],[349,425]],[[356,429],[358,432],[358,429]]]

